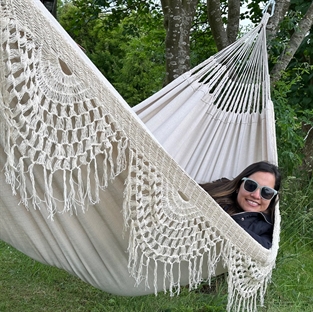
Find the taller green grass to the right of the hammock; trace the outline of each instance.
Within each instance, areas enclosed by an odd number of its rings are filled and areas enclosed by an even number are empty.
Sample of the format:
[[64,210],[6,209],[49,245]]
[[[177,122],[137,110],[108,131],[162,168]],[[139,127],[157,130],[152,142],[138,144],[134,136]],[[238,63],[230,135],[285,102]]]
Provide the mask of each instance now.
[[286,179],[280,210],[280,249],[263,311],[312,312],[313,180]]

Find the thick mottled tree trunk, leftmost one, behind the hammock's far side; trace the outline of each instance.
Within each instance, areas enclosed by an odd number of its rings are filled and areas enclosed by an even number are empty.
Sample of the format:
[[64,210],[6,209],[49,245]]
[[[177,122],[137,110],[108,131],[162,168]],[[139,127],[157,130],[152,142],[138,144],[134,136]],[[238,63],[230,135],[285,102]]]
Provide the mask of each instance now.
[[170,83],[190,69],[190,30],[198,0],[161,0],[166,30],[166,80]]

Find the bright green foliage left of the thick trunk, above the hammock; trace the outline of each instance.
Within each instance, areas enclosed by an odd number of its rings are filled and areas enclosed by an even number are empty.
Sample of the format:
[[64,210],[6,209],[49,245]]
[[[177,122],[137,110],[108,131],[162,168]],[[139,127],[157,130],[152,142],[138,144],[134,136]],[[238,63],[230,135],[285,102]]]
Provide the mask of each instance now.
[[150,23],[142,23],[133,13],[113,29],[98,28],[97,43],[90,54],[131,106],[161,89],[164,81],[165,30],[159,18],[146,18]]

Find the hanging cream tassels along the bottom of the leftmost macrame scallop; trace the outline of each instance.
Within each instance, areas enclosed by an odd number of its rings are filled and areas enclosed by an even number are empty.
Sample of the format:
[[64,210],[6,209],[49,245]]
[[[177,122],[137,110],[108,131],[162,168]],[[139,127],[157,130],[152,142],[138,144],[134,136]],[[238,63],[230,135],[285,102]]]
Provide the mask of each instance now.
[[[128,143],[125,137],[118,140],[112,133],[111,140],[106,139],[105,148],[99,150],[88,162],[89,155],[81,153],[79,157],[83,165],[78,165],[78,161],[71,164],[70,161],[62,159],[62,156],[59,157],[62,154],[60,150],[56,151],[53,155],[56,161],[54,165],[49,166],[49,155],[44,155],[41,160],[40,156],[30,156],[32,146],[20,148],[16,142],[25,139],[18,136],[14,139],[9,130],[12,126],[8,125],[9,122],[1,127],[1,137],[7,154],[4,167],[6,182],[11,185],[14,195],[19,192],[21,203],[27,209],[40,209],[45,206],[51,219],[55,213],[72,214],[78,209],[84,212],[89,205],[98,203],[100,189],[106,189],[109,181],[126,169]],[[21,157],[18,158],[17,155]],[[38,180],[42,183],[38,184]],[[62,185],[62,194],[55,190],[55,185]],[[63,202],[63,210],[57,208],[60,207],[60,202]]]

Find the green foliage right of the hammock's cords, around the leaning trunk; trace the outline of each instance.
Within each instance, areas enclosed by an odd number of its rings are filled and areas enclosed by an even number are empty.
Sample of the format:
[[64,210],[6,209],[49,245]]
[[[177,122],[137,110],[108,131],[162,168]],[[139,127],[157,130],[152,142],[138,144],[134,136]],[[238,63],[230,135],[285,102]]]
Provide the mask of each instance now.
[[[311,0],[293,0],[280,25],[280,31],[269,41],[270,69],[288,48],[291,36],[298,31]],[[313,124],[313,32],[298,48],[295,56],[273,90],[277,117],[279,162],[288,175],[303,163],[305,126]],[[306,155],[308,157],[308,155]]]

